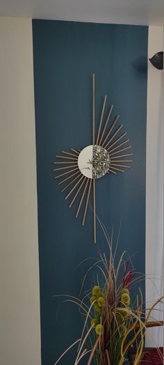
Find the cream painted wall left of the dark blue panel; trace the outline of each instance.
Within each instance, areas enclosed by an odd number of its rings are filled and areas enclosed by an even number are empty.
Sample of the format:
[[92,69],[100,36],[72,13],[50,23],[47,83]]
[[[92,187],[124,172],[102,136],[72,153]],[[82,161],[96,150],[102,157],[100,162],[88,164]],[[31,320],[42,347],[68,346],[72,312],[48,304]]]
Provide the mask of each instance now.
[[31,20],[0,18],[0,364],[40,365]]

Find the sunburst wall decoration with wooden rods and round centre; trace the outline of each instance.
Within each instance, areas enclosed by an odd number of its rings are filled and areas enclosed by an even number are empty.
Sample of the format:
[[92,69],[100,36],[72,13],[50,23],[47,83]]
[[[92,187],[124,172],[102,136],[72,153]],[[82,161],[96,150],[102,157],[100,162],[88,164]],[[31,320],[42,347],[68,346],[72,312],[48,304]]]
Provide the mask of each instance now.
[[[107,96],[101,109],[99,130],[95,139],[95,74],[92,75],[92,144],[82,150],[70,148],[71,152],[62,150],[63,155],[56,155],[61,160],[54,162],[56,165],[56,179],[60,179],[58,185],[63,185],[62,193],[67,192],[65,200],[71,198],[69,208],[72,207],[76,198],[79,196],[79,205],[76,217],[82,210],[82,203],[85,201],[83,209],[82,224],[84,226],[88,211],[88,203],[92,190],[93,199],[93,238],[96,243],[96,180],[108,174],[124,173],[124,169],[130,169],[129,157],[133,153],[125,153],[131,146],[125,146],[129,139],[124,139],[126,132],[120,134],[123,124],[118,124],[120,116],[116,116],[110,125],[110,116],[113,111],[113,104],[110,105],[106,121],[104,121],[104,111]],[[109,126],[109,127],[108,127]],[[123,147],[124,146],[124,147]],[[128,160],[127,160],[128,157]],[[131,158],[131,157],[130,157]],[[60,173],[60,172],[61,173]],[[64,172],[62,172],[64,171]],[[65,176],[65,177],[64,177]],[[63,178],[64,177],[64,178]],[[67,182],[67,183],[66,183]],[[66,185],[65,185],[66,183]],[[70,189],[69,189],[70,187]],[[69,189],[69,190],[68,190]]]

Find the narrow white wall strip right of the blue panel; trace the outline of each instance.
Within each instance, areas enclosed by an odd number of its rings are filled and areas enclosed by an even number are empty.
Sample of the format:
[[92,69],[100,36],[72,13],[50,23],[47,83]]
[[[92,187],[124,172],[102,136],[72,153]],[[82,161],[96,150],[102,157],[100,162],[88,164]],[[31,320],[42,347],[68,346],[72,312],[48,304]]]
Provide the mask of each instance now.
[[[163,51],[163,27],[149,27],[149,57]],[[163,295],[163,71],[148,62],[147,84],[147,192],[146,192],[146,299],[150,307]],[[151,279],[150,279],[151,278]],[[163,306],[158,306],[163,311]],[[163,312],[154,311],[163,320]],[[147,345],[163,345],[163,329],[147,334]]]

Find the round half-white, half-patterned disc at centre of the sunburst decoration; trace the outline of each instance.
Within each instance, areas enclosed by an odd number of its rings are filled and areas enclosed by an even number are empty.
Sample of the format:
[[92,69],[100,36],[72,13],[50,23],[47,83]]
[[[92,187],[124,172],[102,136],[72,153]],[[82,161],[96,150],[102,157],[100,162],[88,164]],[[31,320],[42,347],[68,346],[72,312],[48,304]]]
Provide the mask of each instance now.
[[78,166],[81,173],[87,178],[101,178],[110,168],[108,151],[101,146],[87,146],[79,154]]

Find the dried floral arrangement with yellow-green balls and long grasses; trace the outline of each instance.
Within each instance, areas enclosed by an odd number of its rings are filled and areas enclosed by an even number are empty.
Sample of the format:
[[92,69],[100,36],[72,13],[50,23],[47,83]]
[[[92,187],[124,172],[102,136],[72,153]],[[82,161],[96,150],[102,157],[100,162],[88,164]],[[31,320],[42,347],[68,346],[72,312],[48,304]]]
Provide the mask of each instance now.
[[[131,348],[136,349],[133,364],[140,364],[147,322],[151,318],[151,311],[162,302],[163,297],[147,309],[145,315],[142,290],[138,288],[138,293],[133,293],[133,286],[136,288],[144,275],[137,274],[133,267],[129,268],[130,263],[124,258],[126,252],[115,267],[112,240],[108,240],[108,247],[109,257],[100,254],[99,260],[88,270],[95,270],[97,267],[101,273],[97,275],[97,282],[89,295],[85,295],[83,300],[68,296],[83,311],[84,326],[81,338],[60,356],[56,364],[78,343],[74,365],[79,364],[84,357],[87,365],[128,364],[128,352]],[[99,280],[103,281],[102,286]]]

